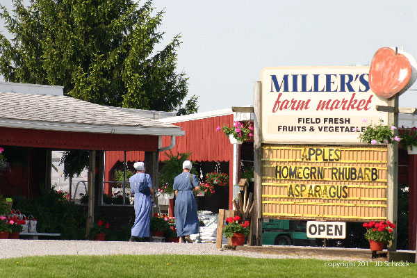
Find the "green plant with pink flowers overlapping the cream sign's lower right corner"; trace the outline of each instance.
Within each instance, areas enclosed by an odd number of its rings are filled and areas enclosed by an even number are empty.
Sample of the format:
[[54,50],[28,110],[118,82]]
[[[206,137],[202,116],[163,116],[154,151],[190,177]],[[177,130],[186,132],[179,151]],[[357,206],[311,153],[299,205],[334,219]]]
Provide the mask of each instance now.
[[[367,120],[364,119],[363,122]],[[383,124],[382,120],[379,120],[379,124],[368,124],[365,130],[359,135],[359,139],[361,142],[366,142],[370,145],[379,144],[392,144],[394,141],[400,142],[400,137],[395,136],[395,126],[387,126]],[[359,129],[355,129],[355,131],[359,131]]]

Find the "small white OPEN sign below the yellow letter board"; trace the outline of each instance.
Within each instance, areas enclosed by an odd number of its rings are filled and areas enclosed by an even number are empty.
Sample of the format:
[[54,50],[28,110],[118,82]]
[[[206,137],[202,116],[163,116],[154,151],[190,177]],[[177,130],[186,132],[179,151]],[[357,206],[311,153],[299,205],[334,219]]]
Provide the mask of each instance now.
[[307,237],[309,238],[345,238],[345,222],[307,221]]

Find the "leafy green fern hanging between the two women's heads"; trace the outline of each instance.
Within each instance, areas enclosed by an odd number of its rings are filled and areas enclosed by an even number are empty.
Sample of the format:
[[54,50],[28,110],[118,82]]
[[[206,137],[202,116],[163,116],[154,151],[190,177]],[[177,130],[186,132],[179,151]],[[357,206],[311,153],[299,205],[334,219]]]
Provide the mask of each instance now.
[[[177,175],[181,174],[183,171],[182,165],[183,162],[188,160],[188,157],[191,155],[190,152],[186,153],[177,153],[177,155],[165,152],[167,160],[164,161],[164,165],[161,169],[161,174],[159,174],[160,184],[159,188],[163,188],[163,193],[173,193],[174,192],[174,179]],[[191,169],[192,174],[197,174],[195,169]],[[161,192],[161,190],[159,190]]]

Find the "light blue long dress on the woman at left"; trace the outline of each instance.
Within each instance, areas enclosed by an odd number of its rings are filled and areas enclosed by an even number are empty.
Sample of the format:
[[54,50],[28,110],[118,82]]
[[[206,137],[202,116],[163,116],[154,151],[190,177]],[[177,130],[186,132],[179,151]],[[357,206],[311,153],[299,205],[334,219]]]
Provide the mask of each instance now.
[[[138,190],[139,181],[147,181],[147,186],[152,188],[152,180],[149,174],[138,173],[130,177],[131,190],[135,193],[135,223],[133,224],[131,235],[138,238],[149,237],[149,214],[151,213],[151,196],[142,194]],[[136,185],[135,185],[136,181]]]

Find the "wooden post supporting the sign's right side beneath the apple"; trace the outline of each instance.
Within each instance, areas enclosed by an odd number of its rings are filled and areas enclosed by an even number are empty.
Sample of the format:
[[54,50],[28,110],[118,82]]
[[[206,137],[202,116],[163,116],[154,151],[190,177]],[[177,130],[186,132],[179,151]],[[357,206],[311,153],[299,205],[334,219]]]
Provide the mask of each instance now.
[[[398,126],[398,95],[388,100],[388,106],[393,107],[392,113],[388,113],[388,125]],[[395,130],[398,135],[398,130]],[[398,142],[388,145],[388,180],[387,180],[387,206],[386,218],[398,225]],[[390,252],[397,250],[397,229],[393,229],[393,243],[388,248]]]

